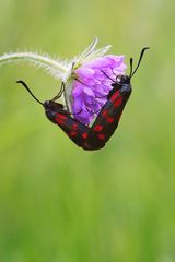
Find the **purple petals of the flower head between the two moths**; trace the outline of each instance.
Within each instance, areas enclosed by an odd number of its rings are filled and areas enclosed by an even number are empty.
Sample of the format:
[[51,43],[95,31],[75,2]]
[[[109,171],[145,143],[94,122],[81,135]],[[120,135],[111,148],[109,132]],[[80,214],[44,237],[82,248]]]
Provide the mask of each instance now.
[[74,118],[84,124],[90,124],[107,100],[112,90],[112,80],[124,74],[126,64],[124,56],[104,56],[83,63],[73,71],[72,112]]

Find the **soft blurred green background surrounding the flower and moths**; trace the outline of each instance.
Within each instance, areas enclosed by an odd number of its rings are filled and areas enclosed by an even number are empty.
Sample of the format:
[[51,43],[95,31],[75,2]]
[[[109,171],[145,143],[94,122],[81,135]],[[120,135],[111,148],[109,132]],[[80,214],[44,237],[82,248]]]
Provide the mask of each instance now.
[[[0,261],[175,261],[175,2],[0,0],[0,55],[71,58],[151,49],[106,147],[85,152],[15,84],[42,100],[60,83],[28,64],[0,68]],[[128,63],[129,64],[129,63]]]

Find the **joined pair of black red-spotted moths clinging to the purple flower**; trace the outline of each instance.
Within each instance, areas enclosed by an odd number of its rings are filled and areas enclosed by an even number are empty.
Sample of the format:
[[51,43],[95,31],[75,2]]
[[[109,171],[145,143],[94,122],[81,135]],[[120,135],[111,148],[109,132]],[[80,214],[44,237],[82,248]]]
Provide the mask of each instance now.
[[[91,127],[85,126],[84,123],[74,119],[72,116],[73,114],[66,110],[62,104],[55,102],[61,96],[62,92],[65,92],[63,83],[59,94],[51,100],[46,100],[44,103],[34,96],[34,94],[22,80],[18,81],[18,83],[22,84],[30,92],[33,98],[44,106],[46,117],[51,122],[59,126],[78,146],[88,151],[100,150],[105,146],[105,143],[109,140],[118,126],[125,105],[132,91],[130,80],[138,70],[143,53],[147,49],[149,49],[149,47],[144,47],[142,49],[135,70],[132,70],[132,58],[130,58],[129,75],[117,75],[115,81],[109,78],[112,80],[113,88],[109,91],[107,95],[107,102],[97,114],[97,117]],[[106,78],[108,78],[105,72],[103,73],[106,75]]]

